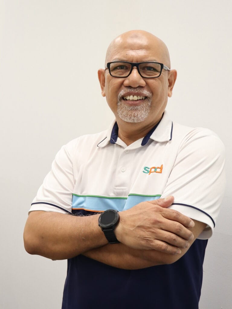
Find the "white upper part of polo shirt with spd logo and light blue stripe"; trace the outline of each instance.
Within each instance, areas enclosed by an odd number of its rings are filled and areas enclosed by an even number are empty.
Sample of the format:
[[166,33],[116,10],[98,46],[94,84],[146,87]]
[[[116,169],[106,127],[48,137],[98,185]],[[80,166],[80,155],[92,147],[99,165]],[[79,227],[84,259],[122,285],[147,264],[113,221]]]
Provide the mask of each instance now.
[[127,146],[114,124],[61,148],[30,211],[122,211],[173,195],[170,208],[206,223],[198,238],[208,239],[225,188],[224,145],[218,136],[174,123],[164,112],[150,138]]

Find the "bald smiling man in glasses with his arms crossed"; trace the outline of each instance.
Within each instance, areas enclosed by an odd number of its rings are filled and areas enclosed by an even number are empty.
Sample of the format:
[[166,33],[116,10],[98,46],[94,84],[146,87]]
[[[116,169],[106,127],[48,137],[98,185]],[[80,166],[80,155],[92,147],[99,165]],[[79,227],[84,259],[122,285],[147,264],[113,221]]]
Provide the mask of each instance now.
[[68,259],[63,309],[198,308],[224,147],[168,118],[176,77],[152,34],[113,40],[98,78],[116,122],[63,146],[32,203],[25,248]]

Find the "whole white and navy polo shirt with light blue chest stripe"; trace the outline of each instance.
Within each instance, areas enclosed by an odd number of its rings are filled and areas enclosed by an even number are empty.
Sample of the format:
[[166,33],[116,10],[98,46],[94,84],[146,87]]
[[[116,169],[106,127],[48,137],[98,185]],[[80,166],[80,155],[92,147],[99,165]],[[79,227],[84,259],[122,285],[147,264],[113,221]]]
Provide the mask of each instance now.
[[173,195],[170,208],[207,226],[171,265],[125,270],[83,255],[69,259],[62,309],[198,308],[204,252],[225,188],[224,152],[215,133],[172,122],[167,112],[129,146],[115,121],[63,146],[30,211],[92,215]]

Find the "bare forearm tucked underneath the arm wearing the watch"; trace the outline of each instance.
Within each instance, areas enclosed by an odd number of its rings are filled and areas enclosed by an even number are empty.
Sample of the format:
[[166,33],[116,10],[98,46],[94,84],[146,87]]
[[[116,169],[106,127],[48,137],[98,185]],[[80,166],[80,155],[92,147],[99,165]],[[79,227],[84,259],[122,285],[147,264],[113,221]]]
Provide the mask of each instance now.
[[110,245],[107,244],[101,248],[93,249],[83,253],[93,260],[101,263],[122,268],[122,269],[141,269],[150,266],[171,264],[180,259],[190,248],[191,244],[204,230],[206,224],[193,220],[195,226],[190,228],[194,235],[194,239],[189,241],[189,246],[181,249],[179,254],[167,254],[157,250],[138,250],[132,249],[122,243]]

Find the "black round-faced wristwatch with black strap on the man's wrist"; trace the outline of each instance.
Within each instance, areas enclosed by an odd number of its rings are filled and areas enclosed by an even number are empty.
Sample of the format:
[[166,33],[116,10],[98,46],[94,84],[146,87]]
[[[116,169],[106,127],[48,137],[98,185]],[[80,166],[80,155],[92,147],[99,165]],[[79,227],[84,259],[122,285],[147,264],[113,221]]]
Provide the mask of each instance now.
[[98,218],[98,225],[101,227],[109,243],[119,243],[114,234],[114,229],[119,222],[119,218],[118,211],[113,209],[105,210]]

